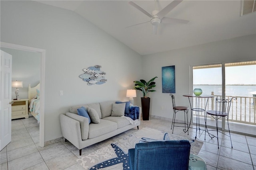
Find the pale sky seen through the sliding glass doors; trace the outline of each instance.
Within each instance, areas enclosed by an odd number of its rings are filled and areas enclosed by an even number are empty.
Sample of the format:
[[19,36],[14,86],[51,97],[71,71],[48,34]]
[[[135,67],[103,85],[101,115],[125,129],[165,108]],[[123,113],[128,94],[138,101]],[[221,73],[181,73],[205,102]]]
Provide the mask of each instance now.
[[[256,84],[256,65],[228,66],[226,84]],[[193,70],[193,84],[222,84],[222,68]]]

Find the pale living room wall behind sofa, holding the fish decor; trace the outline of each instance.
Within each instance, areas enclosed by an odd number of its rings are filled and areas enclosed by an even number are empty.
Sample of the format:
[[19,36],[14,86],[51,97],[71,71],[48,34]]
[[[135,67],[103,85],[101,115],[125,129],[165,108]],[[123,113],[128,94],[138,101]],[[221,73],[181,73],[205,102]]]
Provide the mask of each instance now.
[[[72,11],[34,1],[1,1],[0,41],[46,50],[45,141],[62,137],[59,115],[70,106],[128,101],[142,58]],[[88,86],[78,76],[101,65],[107,82]],[[63,90],[63,96],[59,96]]]

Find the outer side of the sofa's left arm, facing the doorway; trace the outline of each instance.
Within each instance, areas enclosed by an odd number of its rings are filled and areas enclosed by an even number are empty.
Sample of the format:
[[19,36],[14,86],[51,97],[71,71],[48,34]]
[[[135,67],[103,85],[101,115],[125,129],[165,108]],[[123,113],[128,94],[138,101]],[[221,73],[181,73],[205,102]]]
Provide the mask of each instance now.
[[64,114],[60,114],[60,127],[62,135],[78,149],[82,149],[82,137],[79,121]]

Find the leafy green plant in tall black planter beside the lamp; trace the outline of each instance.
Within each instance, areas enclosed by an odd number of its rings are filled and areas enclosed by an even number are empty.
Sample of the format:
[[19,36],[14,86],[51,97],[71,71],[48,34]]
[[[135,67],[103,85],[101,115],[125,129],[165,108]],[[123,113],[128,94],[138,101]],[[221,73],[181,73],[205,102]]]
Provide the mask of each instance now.
[[154,77],[148,82],[145,80],[134,81],[136,90],[140,90],[143,93],[143,98],[141,98],[141,107],[142,107],[142,119],[149,120],[149,109],[150,109],[150,98],[147,96],[148,92],[156,92],[152,88],[156,87],[156,82],[153,82],[156,78]]

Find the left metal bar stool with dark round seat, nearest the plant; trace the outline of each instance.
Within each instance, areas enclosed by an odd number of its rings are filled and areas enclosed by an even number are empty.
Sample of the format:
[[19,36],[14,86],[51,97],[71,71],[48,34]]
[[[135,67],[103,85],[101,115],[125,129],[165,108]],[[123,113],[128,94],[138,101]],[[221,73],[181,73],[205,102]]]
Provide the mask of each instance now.
[[[183,131],[186,133],[186,127],[188,129],[188,107],[185,107],[185,106],[176,106],[175,105],[175,98],[174,98],[174,95],[173,94],[170,94],[171,98],[172,98],[172,108],[173,108],[173,116],[172,116],[172,133],[173,133],[173,130],[174,130],[174,126],[176,127],[183,127],[183,126],[177,126],[175,125],[175,118],[176,118],[176,113],[178,113],[178,111],[184,111],[184,128]],[[186,115],[187,115],[187,122],[186,122]],[[179,123],[180,124],[180,123]]]

